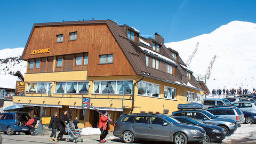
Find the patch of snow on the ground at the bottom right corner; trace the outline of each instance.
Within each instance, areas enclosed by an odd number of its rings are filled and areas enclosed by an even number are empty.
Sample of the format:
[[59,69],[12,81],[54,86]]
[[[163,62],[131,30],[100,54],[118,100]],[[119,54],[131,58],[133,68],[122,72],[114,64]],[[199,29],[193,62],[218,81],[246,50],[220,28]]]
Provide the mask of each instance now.
[[241,127],[238,127],[234,134],[226,137],[223,142],[229,142],[232,140],[241,140],[245,138],[255,138],[254,133],[256,132],[255,124],[242,124]]

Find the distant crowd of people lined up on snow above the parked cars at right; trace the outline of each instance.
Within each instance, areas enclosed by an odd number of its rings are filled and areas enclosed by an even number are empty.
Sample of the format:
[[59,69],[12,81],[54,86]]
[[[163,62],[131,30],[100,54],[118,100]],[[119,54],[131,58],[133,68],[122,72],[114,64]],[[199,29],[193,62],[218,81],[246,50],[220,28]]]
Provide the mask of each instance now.
[[212,90],[212,94],[213,95],[241,95],[241,94],[251,94],[251,93],[256,93],[256,90],[253,88],[253,92],[250,92],[248,89],[242,89],[241,87],[239,87],[239,89],[213,89]]

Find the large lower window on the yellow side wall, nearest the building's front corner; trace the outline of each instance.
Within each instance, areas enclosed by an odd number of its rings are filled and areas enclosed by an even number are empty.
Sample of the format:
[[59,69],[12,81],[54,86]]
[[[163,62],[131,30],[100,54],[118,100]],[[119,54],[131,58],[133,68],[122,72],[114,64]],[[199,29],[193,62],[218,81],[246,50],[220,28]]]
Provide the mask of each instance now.
[[160,85],[143,82],[143,81],[139,82],[138,94],[152,96],[152,97],[159,97]]

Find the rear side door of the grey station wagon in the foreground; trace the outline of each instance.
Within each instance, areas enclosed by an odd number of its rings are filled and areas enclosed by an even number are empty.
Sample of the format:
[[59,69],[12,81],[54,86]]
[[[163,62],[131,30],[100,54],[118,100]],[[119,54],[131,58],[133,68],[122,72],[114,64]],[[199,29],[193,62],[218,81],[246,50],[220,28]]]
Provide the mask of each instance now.
[[134,123],[132,123],[132,130],[137,139],[148,139],[149,134],[149,124],[148,116],[137,116],[134,118]]

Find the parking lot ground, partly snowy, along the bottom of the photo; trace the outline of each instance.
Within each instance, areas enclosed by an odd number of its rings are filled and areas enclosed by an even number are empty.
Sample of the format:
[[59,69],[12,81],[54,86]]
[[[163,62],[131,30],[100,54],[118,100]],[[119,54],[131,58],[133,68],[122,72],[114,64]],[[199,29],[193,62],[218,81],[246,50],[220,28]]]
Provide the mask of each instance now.
[[[229,135],[223,140],[222,143],[256,143],[256,125],[252,124],[242,124],[237,128],[234,134]],[[4,144],[13,144],[13,143],[55,143],[50,142],[50,131],[45,131],[44,135],[31,136],[31,135],[6,135],[1,133],[3,137]],[[84,142],[82,143],[99,143],[99,135],[83,135]],[[109,132],[107,135],[106,143],[123,143],[123,141],[119,138],[114,137],[113,132]],[[73,142],[65,142],[59,141],[58,143],[73,143]],[[79,142],[78,142],[79,143]],[[155,141],[135,141],[134,143],[163,143],[163,142],[155,142]]]

